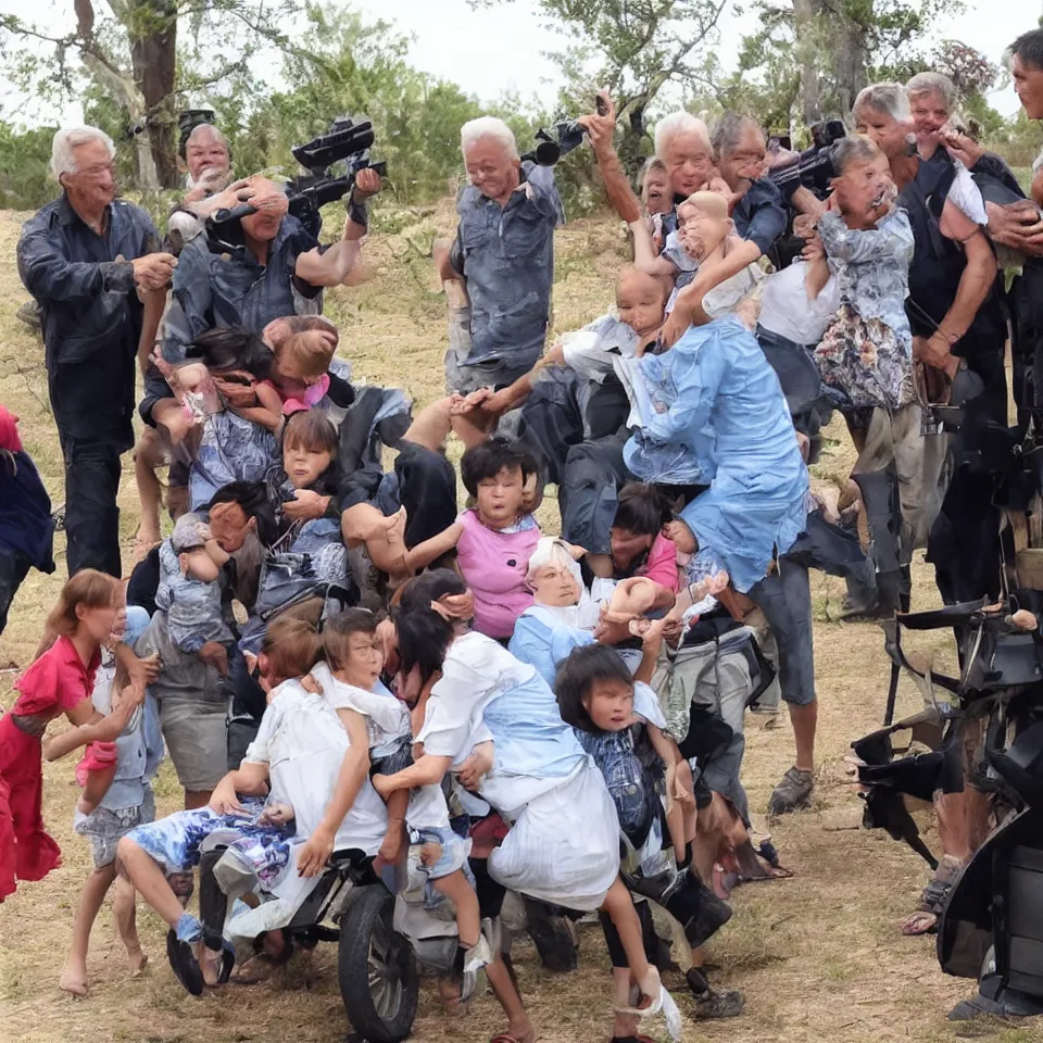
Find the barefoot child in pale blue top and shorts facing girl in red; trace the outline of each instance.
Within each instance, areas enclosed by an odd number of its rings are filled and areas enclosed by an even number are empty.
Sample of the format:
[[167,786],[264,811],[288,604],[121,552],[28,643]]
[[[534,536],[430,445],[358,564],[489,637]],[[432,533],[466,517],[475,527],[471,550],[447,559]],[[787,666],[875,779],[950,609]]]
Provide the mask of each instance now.
[[[148,626],[148,615],[140,608],[128,612],[124,585],[118,583],[116,590],[120,604],[111,640],[123,641],[133,648]],[[133,619],[128,618],[130,616]],[[128,691],[133,687],[125,666],[103,646],[102,663],[91,693],[95,709],[108,715],[124,700],[139,702],[140,693]],[[95,743],[93,747],[98,745]],[[89,757],[85,757],[76,769],[84,795],[76,807],[73,830],[90,841],[95,868],[80,894],[73,920],[73,943],[60,981],[60,988],[75,996],[87,995],[90,931],[114,881],[113,919],[126,946],[131,975],[140,973],[148,962],[135,925],[134,888],[116,876],[116,844],[121,837],[142,822],[152,821],[155,816],[151,782],[163,757],[163,739],[151,695],[146,694],[140,708],[131,714],[127,727],[116,738],[114,754],[108,770],[92,768]]]

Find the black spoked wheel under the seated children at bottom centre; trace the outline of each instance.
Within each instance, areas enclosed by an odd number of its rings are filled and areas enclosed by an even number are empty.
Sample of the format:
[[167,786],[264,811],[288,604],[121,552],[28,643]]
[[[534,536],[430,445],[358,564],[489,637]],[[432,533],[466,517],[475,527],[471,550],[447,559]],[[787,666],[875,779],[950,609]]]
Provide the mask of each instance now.
[[340,995],[352,1028],[368,1043],[399,1043],[416,1017],[416,958],[392,927],[393,912],[394,896],[375,883],[357,889],[340,921]]

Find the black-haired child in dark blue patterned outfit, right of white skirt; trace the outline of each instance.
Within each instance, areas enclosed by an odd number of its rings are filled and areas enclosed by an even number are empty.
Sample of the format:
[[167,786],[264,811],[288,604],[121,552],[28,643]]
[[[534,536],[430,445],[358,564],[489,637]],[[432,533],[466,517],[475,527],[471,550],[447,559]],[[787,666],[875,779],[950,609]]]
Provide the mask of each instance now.
[[[619,828],[633,849],[632,857],[624,859],[625,871],[650,883],[667,881],[661,901],[698,950],[728,921],[731,909],[690,871],[696,834],[692,774],[677,743],[665,733],[666,721],[655,693],[648,684],[634,682],[619,655],[602,645],[573,652],[558,669],[554,691],[562,719],[576,729],[583,749],[601,769]],[[665,851],[670,846],[673,859]],[[645,907],[642,927],[654,935],[648,912]],[[616,979],[613,1039],[628,1039],[634,1034],[636,1021],[619,1008],[627,1006],[631,971],[619,935],[605,916],[602,926]],[[725,1005],[701,975],[690,976],[689,983],[707,1003],[704,1016],[708,1010],[716,1017],[741,1013],[739,994]]]

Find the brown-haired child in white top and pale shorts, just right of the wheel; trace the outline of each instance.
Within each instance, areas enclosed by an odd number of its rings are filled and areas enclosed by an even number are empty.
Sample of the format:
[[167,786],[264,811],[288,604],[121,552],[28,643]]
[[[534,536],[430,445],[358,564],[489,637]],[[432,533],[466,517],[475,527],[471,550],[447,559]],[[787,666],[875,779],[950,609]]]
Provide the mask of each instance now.
[[[384,669],[384,645],[377,636],[377,617],[365,608],[349,608],[326,620],[323,628],[326,663],[312,670],[327,703],[335,709],[352,709],[366,721],[369,736],[370,779],[384,796],[382,783],[388,776],[407,767],[412,761],[413,729],[405,704],[380,683]],[[483,737],[488,736],[488,730]],[[473,754],[492,763],[492,739],[475,742]],[[441,788],[430,783],[413,790],[397,790],[387,797],[388,840],[380,856],[398,863],[393,834],[401,837],[402,821],[422,844],[420,863],[428,881],[456,909],[460,939],[458,965],[463,973],[460,1000],[466,1003],[474,994],[478,971],[491,959],[488,943],[481,934],[478,896],[467,874],[470,842],[462,840],[450,827],[449,806]]]

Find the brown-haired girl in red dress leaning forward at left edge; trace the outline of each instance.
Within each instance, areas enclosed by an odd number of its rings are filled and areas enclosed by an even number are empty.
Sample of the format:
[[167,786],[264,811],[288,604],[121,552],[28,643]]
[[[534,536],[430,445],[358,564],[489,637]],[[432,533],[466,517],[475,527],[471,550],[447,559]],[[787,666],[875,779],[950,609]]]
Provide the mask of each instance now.
[[[42,880],[62,862],[43,829],[42,759],[114,742],[143,696],[141,687],[125,689],[106,717],[90,701],[101,646],[118,613],[116,588],[92,568],[65,583],[47,620],[58,639],[15,682],[17,699],[0,718],[0,901],[14,893],[16,879]],[[62,714],[73,727],[45,740],[47,726]]]

